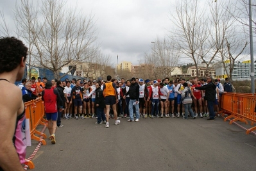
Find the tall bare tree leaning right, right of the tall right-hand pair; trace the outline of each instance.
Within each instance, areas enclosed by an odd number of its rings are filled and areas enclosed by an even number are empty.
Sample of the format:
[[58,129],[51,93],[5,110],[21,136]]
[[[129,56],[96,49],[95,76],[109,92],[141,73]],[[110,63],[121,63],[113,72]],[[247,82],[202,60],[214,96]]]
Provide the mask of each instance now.
[[[205,74],[208,73],[209,65],[216,59],[219,49],[223,47],[225,38],[234,33],[235,20],[229,15],[230,1],[220,1],[218,3],[209,3],[210,16],[205,19],[207,29],[198,38],[200,42],[199,55],[203,63],[206,64]],[[228,9],[228,10],[227,10]]]

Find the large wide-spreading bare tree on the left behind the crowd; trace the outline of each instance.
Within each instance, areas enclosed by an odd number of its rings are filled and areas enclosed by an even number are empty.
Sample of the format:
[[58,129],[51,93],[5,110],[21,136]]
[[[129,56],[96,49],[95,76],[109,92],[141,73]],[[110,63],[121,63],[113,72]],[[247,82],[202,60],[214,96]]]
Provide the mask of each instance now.
[[16,7],[17,14],[31,8],[38,12],[28,10],[16,15],[35,46],[33,57],[41,66],[53,71],[56,78],[60,79],[60,70],[71,61],[85,61],[94,53],[92,42],[96,37],[92,15],[83,15],[77,8],[71,10],[61,0],[43,0],[33,7],[30,1],[22,1],[24,3]]

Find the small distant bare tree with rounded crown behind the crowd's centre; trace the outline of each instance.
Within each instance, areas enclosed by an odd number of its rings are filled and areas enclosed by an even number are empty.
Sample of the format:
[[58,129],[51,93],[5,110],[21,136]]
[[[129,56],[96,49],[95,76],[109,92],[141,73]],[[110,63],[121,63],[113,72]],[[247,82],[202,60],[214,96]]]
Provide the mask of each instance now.
[[167,38],[162,40],[157,38],[153,42],[151,51],[151,54],[146,55],[145,58],[147,66],[153,66],[153,76],[155,79],[171,76],[171,72],[178,63],[178,55],[173,43],[167,40]]

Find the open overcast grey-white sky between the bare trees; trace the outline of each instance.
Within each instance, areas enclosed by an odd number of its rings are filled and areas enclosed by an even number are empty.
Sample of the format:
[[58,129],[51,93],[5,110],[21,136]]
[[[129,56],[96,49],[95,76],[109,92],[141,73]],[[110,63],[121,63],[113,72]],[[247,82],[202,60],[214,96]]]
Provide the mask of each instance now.
[[[175,3],[175,0],[78,0],[77,3],[83,13],[94,15],[96,43],[101,44],[101,52],[111,56],[115,65],[117,54],[119,63],[131,61],[135,65],[150,51],[151,42],[164,37],[171,28],[171,1]],[[0,2],[5,19],[13,20],[15,0]],[[76,1],[68,0],[67,4],[75,5]]]

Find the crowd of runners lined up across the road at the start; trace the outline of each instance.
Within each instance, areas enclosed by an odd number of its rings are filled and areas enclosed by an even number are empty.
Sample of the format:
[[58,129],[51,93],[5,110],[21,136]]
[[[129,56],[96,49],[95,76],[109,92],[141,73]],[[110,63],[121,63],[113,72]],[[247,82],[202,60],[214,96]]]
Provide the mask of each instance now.
[[[30,101],[41,97],[45,89],[47,78],[31,77],[31,80],[22,80],[19,85],[22,89],[24,101]],[[214,83],[214,102],[207,104],[207,94],[200,89],[209,83]],[[107,85],[107,86],[106,86]],[[24,87],[23,87],[24,86]],[[107,80],[75,79],[71,81],[51,80],[51,88],[57,88],[62,96],[58,102],[59,112],[57,126],[60,117],[65,119],[98,118],[96,124],[105,123],[109,127],[108,119],[115,118],[115,125],[120,123],[117,118],[129,117],[129,122],[138,122],[140,118],[191,118],[209,117],[210,105],[214,110],[214,116],[218,117],[221,94],[232,92],[232,85],[228,78],[222,85],[220,79],[165,79],[149,80],[133,77],[125,80],[117,80],[111,76]],[[200,90],[199,90],[200,89]],[[184,90],[188,90],[187,94]],[[211,91],[211,90],[210,90]],[[210,92],[209,91],[209,92]],[[183,93],[182,93],[183,92]],[[186,91],[185,91],[186,92]],[[206,96],[206,97],[205,97]],[[111,99],[112,97],[113,99]],[[97,112],[98,111],[98,112]],[[212,118],[211,120],[214,120]]]

